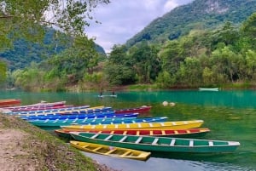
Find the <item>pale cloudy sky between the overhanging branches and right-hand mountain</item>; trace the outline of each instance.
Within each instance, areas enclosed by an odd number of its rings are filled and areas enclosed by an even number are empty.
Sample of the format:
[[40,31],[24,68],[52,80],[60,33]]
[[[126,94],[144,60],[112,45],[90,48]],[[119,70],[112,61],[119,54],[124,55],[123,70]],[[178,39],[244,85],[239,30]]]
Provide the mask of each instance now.
[[110,0],[100,4],[91,13],[96,24],[90,22],[85,29],[88,37],[96,38],[96,43],[111,52],[114,44],[124,44],[128,39],[142,31],[154,19],[170,12],[177,6],[193,0]]

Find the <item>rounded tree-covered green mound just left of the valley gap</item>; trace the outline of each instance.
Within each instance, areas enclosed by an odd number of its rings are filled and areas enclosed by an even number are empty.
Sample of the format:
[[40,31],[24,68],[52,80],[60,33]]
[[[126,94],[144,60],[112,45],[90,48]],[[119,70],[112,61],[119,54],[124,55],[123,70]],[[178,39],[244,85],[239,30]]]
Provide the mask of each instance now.
[[78,83],[84,78],[85,73],[93,73],[93,68],[98,65],[98,54],[95,43],[87,37],[74,37],[73,45],[61,54],[49,59],[48,79],[55,77],[64,80],[64,83]]

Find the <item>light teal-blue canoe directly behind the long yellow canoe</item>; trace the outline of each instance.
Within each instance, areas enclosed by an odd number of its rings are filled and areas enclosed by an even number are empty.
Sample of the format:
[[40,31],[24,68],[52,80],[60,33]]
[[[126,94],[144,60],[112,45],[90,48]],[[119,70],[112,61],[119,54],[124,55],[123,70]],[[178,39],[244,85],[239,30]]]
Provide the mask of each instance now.
[[34,120],[27,121],[32,125],[38,127],[61,127],[64,125],[96,125],[96,124],[116,124],[116,123],[154,123],[164,122],[167,117],[148,117],[148,118],[137,118],[137,117],[113,117],[113,118],[85,118],[85,119],[55,119],[55,120]]

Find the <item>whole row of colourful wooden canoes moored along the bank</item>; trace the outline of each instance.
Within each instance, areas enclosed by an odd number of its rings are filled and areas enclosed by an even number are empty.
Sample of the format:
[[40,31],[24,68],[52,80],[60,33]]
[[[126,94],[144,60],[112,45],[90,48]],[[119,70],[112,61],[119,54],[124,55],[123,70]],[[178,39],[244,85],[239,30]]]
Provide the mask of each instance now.
[[16,108],[9,114],[40,128],[57,128],[55,133],[72,139],[70,144],[79,150],[113,157],[146,160],[154,151],[233,152],[240,145],[236,141],[192,139],[192,135],[198,138],[210,131],[201,128],[202,120],[169,121],[167,117],[139,116],[140,112],[150,111],[151,106],[123,110],[89,105],[81,109],[73,107],[79,106],[58,105],[56,109],[37,110],[43,106],[29,105],[24,111],[20,106],[20,111]]

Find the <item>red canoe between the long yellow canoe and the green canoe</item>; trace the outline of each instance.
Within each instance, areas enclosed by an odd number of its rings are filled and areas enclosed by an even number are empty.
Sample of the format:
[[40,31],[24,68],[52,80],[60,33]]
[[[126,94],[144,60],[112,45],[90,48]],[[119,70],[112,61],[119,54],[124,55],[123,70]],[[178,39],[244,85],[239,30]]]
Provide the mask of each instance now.
[[[180,130],[109,130],[109,131],[96,131],[89,130],[88,133],[95,134],[129,134],[129,135],[148,135],[148,136],[172,136],[172,137],[199,137],[210,132],[208,128],[189,128]],[[64,129],[55,129],[55,134],[60,137],[71,139],[70,131]]]

